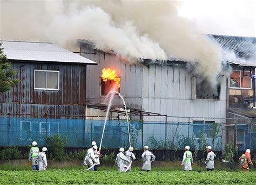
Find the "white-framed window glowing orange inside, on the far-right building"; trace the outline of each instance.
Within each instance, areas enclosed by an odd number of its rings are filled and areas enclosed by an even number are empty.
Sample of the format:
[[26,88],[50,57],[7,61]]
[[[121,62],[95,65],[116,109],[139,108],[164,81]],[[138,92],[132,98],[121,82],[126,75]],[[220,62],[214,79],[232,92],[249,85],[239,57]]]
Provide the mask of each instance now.
[[230,75],[230,88],[231,89],[251,89],[252,79],[250,71],[234,71]]

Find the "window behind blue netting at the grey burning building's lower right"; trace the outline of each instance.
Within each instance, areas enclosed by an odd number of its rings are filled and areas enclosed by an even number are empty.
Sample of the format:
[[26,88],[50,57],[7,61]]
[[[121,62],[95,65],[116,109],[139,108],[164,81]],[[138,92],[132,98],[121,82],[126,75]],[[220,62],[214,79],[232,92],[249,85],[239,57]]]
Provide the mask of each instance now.
[[193,134],[195,138],[200,138],[201,133],[205,138],[212,138],[212,129],[214,121],[194,120],[193,121]]

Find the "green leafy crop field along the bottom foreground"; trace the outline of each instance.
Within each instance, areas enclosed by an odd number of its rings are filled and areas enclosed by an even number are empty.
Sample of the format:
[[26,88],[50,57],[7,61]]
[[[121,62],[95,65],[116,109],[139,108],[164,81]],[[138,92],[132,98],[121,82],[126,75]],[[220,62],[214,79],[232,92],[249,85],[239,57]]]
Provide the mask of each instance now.
[[133,170],[130,173],[119,173],[116,170],[100,170],[98,172],[85,169],[49,169],[32,170],[0,170],[0,184],[256,184],[256,172],[183,172],[152,170],[142,172]]

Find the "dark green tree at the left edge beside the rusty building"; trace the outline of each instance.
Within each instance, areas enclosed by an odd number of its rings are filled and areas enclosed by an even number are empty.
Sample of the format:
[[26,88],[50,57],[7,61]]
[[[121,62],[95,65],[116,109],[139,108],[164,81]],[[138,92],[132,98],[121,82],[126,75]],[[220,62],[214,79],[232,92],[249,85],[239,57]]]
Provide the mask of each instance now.
[[17,72],[11,69],[11,62],[9,62],[1,46],[2,43],[0,43],[0,92],[4,92],[11,90],[11,87],[15,86],[19,79],[13,79]]

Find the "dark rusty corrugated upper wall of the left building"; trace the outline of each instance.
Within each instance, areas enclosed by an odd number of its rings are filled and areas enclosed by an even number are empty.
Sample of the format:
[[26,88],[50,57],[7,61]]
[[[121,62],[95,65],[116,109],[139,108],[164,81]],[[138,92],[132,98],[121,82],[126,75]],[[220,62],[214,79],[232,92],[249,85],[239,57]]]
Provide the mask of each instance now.
[[[23,67],[22,82],[22,113],[43,113],[50,108],[52,114],[82,115],[86,104],[86,66],[66,65],[63,63],[30,63],[12,61],[17,70]],[[34,70],[58,70],[59,90],[35,90]],[[20,85],[10,91],[0,93],[0,112],[19,113]]]

